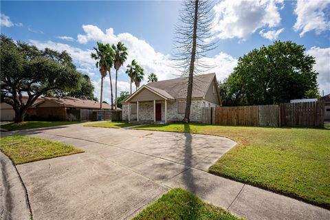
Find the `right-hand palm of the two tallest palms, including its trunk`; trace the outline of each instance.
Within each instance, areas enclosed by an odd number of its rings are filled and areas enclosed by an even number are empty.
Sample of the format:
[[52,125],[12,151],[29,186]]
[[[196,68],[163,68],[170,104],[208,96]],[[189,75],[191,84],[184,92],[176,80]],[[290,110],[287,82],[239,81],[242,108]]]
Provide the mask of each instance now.
[[115,52],[113,57],[113,63],[115,66],[115,109],[117,109],[117,79],[118,70],[127,59],[127,47],[122,42],[118,42],[117,46],[112,45],[112,49]]

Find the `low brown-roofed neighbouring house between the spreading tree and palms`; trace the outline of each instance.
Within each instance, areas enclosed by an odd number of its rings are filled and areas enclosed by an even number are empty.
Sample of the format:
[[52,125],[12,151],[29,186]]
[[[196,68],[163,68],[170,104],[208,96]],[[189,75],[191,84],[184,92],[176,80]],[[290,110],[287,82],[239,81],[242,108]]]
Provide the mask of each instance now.
[[[102,108],[104,110],[109,110],[111,109],[111,105],[103,103]],[[71,120],[69,114],[72,113],[74,116],[73,110],[80,109],[98,110],[100,109],[100,102],[94,100],[82,100],[80,98],[69,96],[63,98],[45,97],[43,98],[43,102],[36,104],[36,116],[40,119],[47,120]],[[74,120],[76,120],[76,118],[77,117],[75,117]]]

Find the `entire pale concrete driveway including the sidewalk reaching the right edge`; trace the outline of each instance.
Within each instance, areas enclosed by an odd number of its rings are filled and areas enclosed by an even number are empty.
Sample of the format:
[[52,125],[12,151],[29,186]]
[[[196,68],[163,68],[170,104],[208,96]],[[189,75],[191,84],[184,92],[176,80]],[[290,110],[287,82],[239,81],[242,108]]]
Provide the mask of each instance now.
[[246,219],[330,219],[329,210],[207,173],[235,144],[223,137],[81,124],[21,133],[86,151],[17,166],[34,219],[130,219],[174,187]]

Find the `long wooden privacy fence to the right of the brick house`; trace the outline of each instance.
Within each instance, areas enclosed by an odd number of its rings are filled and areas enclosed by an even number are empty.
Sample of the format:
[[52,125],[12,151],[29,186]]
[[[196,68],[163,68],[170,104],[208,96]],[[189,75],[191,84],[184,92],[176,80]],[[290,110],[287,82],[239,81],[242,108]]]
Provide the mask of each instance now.
[[322,126],[324,102],[284,103],[242,107],[206,107],[203,124],[245,126]]

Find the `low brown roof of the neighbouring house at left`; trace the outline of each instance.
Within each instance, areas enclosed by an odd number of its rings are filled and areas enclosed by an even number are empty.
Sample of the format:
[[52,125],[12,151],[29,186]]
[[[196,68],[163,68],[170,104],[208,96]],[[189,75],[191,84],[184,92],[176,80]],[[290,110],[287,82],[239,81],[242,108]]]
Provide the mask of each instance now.
[[[72,108],[81,108],[81,109],[100,109],[100,102],[96,102],[94,100],[83,100],[80,98],[74,98],[69,96],[65,96],[63,98],[44,97],[43,99],[44,101],[49,101],[61,105],[63,107],[72,107]],[[103,103],[102,109],[111,109],[111,104]]]

